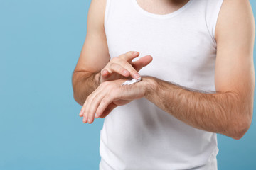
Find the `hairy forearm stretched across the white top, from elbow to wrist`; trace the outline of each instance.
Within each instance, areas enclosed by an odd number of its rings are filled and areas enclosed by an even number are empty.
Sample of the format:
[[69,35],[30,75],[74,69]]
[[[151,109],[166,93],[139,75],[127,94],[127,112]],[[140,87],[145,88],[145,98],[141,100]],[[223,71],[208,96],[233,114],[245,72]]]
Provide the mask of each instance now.
[[235,92],[208,94],[154,77],[146,79],[151,82],[146,98],[178,120],[194,128],[235,139],[247,131],[246,104]]

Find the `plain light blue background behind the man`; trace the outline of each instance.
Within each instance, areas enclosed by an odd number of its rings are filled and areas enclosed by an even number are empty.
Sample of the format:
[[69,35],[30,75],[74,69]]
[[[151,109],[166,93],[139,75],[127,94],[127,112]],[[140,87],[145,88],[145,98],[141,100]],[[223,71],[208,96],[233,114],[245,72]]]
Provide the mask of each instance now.
[[[98,169],[103,120],[82,123],[71,84],[89,6],[0,0],[0,169]],[[254,113],[241,140],[218,135],[218,169],[256,169],[255,141]]]

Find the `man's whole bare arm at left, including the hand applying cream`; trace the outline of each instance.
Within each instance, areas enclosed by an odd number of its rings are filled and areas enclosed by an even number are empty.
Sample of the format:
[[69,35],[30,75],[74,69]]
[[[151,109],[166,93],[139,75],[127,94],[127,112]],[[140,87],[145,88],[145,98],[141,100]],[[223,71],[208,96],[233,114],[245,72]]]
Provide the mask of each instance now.
[[105,0],[93,0],[89,8],[87,35],[72,77],[73,96],[80,105],[104,81],[122,77],[137,79],[139,70],[152,60],[146,55],[132,62],[139,52],[127,52],[110,60],[104,30],[105,5]]

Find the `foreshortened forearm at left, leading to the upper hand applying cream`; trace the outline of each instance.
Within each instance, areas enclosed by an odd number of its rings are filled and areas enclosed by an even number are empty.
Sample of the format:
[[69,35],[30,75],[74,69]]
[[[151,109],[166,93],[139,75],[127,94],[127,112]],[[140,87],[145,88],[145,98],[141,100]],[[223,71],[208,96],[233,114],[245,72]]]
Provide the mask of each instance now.
[[73,96],[81,106],[85,103],[87,96],[95,91],[100,85],[100,72],[90,73],[74,71],[72,77]]

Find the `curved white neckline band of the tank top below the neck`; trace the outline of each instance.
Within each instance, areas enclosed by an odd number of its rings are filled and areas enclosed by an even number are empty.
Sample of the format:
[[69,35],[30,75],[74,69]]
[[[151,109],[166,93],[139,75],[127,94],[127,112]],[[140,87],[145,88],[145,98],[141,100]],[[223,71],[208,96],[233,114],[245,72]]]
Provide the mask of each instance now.
[[141,12],[144,13],[146,16],[150,16],[152,18],[159,18],[159,19],[165,19],[165,18],[172,18],[174,16],[177,16],[179,13],[184,11],[188,6],[190,6],[193,2],[193,0],[189,0],[185,5],[181,6],[181,8],[178,8],[178,10],[172,12],[172,13],[166,13],[166,14],[156,14],[156,13],[150,13],[148,11],[145,11],[139,4],[137,3],[137,0],[132,0],[134,6]]

